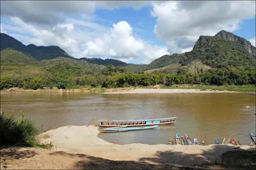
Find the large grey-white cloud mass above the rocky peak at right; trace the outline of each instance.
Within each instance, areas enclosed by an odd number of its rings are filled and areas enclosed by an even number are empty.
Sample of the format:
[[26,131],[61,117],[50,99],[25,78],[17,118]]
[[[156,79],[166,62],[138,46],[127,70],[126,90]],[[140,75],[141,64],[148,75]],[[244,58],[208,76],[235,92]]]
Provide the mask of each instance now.
[[200,35],[234,31],[255,16],[255,1],[164,1],[153,3],[154,32],[170,52],[191,50]]

